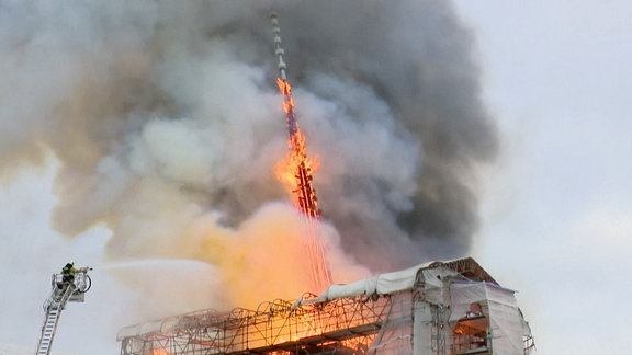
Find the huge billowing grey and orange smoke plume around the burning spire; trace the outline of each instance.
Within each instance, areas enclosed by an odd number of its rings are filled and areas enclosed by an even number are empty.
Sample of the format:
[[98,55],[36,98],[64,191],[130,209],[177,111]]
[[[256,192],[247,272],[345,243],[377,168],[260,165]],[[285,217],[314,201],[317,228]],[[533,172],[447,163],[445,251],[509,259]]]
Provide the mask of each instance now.
[[301,217],[272,172],[286,133],[271,5],[321,163],[335,280],[354,261],[385,271],[462,255],[475,167],[497,142],[471,35],[444,0],[4,1],[2,176],[52,151],[54,227],[106,226],[110,259],[202,260],[226,283],[279,273],[261,268],[296,257],[300,242],[279,236]]

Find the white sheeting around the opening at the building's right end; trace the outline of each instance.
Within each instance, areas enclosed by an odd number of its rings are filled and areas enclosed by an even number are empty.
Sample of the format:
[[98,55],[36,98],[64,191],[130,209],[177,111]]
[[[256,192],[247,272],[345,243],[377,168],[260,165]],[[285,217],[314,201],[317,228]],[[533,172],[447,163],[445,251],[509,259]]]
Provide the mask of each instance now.
[[[486,339],[485,344],[497,355],[523,354],[523,323],[515,291],[485,282],[454,282],[450,285],[452,313],[449,321],[455,334]],[[485,322],[483,328],[482,320]],[[458,336],[455,335],[455,339]],[[489,344],[490,343],[490,344]],[[475,342],[461,346],[475,346]]]

